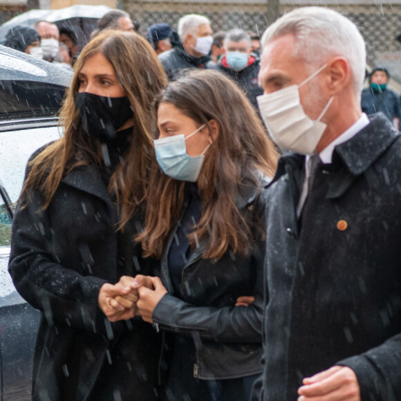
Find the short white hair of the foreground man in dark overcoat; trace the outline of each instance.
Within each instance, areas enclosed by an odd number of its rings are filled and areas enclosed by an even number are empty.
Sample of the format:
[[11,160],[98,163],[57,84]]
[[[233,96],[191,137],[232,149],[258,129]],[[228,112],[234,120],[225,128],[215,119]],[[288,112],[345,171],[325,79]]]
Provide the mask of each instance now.
[[294,56],[304,59],[311,66],[311,72],[329,57],[344,57],[353,73],[355,92],[360,95],[365,77],[366,46],[352,21],[328,8],[297,8],[265,30],[262,48],[288,34],[295,37]]

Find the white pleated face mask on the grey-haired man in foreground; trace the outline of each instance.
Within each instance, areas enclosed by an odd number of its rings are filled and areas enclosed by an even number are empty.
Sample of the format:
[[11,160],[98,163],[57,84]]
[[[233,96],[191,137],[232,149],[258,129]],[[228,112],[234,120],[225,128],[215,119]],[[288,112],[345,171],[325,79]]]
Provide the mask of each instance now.
[[317,120],[311,120],[301,105],[298,89],[316,77],[326,66],[327,64],[321,66],[299,85],[291,85],[257,97],[261,117],[272,140],[279,147],[304,155],[315,153],[317,144],[326,129],[326,124],[320,120],[333,102],[334,96],[330,97]]

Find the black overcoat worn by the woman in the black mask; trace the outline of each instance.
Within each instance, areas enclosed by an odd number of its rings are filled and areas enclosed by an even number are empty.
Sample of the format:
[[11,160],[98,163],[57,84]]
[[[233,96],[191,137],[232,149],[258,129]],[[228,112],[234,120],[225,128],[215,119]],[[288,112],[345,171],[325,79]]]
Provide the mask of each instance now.
[[104,283],[150,272],[139,248],[136,271],[127,268],[117,222],[93,166],[67,174],[46,210],[40,192],[19,202],[9,270],[22,297],[41,310],[34,400],[156,400],[156,331],[141,319],[111,323],[97,306]]

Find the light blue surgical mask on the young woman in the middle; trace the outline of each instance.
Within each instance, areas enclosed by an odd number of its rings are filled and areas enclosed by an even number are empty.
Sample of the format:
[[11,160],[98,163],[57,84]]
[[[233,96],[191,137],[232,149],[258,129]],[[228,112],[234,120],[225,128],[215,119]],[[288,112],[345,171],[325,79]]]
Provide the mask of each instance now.
[[187,154],[187,147],[185,141],[194,136],[198,131],[201,131],[206,124],[199,127],[196,131],[191,133],[187,138],[184,135],[169,136],[163,139],[156,139],[153,141],[155,145],[156,160],[162,171],[169,177],[181,181],[190,181],[195,183],[198,180],[201,168],[203,165],[203,156],[210,144],[201,155],[191,157]]

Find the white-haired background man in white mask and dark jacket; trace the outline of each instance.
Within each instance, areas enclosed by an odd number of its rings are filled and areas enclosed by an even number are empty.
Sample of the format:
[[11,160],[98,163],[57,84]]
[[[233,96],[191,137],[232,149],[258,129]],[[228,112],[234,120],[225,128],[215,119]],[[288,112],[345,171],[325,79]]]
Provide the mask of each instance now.
[[183,68],[217,68],[209,57],[213,37],[210,21],[203,15],[189,14],[178,21],[178,33],[171,32],[173,48],[159,55],[169,80]]

